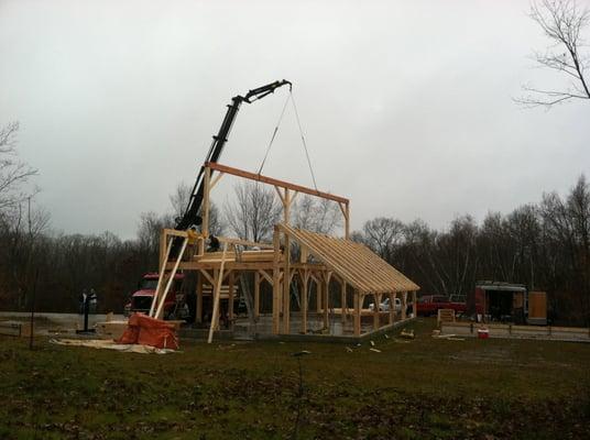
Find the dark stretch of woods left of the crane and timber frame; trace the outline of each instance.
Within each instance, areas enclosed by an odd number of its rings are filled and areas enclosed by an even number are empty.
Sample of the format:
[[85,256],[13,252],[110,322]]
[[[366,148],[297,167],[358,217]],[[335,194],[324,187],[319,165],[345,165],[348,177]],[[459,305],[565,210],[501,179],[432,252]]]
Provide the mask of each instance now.
[[[0,220],[0,307],[4,310],[77,311],[79,295],[94,288],[100,311],[121,311],[141,274],[157,267],[152,215],[142,216],[138,239],[58,234],[28,228],[11,216]],[[34,224],[34,223],[33,223]],[[152,227],[152,231],[146,231]]]

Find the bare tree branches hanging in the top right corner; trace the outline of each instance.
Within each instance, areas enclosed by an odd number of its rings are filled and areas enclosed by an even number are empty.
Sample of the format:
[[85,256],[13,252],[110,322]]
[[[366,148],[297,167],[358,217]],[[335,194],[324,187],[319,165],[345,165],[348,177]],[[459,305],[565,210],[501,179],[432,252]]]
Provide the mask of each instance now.
[[569,81],[560,89],[525,85],[525,95],[516,101],[526,107],[549,108],[572,99],[590,99],[586,76],[589,54],[581,52],[584,46],[581,33],[590,20],[588,8],[579,9],[576,0],[542,0],[531,6],[531,18],[553,43],[545,52],[536,52],[534,59],[540,67],[565,75]]

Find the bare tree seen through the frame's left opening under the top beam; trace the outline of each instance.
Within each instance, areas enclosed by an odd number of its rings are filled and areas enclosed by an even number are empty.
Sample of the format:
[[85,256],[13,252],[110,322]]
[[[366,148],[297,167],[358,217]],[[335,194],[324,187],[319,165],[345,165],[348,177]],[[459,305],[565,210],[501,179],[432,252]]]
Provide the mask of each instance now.
[[282,207],[270,188],[254,182],[234,187],[236,202],[226,205],[228,226],[242,240],[270,240]]

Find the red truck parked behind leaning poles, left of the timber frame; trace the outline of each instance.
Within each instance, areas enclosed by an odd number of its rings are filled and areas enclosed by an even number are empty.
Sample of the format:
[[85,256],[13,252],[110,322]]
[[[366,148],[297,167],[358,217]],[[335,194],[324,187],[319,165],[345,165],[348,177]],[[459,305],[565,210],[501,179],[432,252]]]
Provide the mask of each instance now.
[[[131,295],[131,300],[124,307],[124,315],[130,316],[135,311],[149,314],[152,307],[155,289],[157,288],[157,273],[148,273],[142,276],[138,284],[138,290]],[[185,319],[188,316],[186,298],[182,292],[184,274],[176,274],[174,282],[164,301],[164,319]]]

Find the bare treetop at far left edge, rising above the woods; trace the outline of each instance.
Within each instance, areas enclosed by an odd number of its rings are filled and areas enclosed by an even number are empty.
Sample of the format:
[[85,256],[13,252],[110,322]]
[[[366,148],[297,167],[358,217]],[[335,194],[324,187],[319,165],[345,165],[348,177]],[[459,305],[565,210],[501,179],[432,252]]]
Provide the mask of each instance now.
[[22,185],[37,170],[17,158],[15,136],[19,123],[0,129],[0,210],[13,208],[28,198]]

